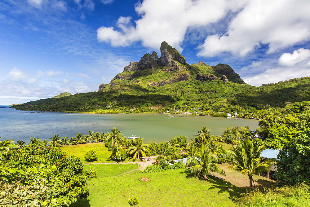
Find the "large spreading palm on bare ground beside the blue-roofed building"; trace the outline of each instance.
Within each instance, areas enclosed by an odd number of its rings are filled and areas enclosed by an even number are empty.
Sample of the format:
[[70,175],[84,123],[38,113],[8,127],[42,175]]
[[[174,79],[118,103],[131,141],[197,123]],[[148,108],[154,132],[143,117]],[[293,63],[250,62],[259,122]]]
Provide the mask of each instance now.
[[[252,189],[253,174],[259,174],[263,171],[270,171],[275,159],[266,159],[261,161],[261,153],[265,146],[260,146],[256,141],[249,139],[241,140],[240,145],[233,147],[229,150],[230,156],[233,161],[228,161],[229,169],[240,172],[241,174],[248,175],[250,181],[250,190]],[[254,183],[255,188],[255,183]]]

